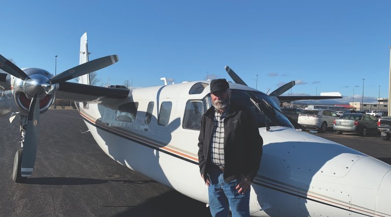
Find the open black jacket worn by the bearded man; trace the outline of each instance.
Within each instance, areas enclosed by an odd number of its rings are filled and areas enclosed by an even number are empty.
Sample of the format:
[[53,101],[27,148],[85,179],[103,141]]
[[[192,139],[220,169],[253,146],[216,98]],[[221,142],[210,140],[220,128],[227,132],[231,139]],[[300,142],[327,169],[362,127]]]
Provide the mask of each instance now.
[[[201,119],[198,137],[198,161],[200,172],[207,178],[210,168],[210,149],[214,128],[214,107],[208,109]],[[224,181],[232,181],[241,174],[252,181],[259,169],[263,140],[252,112],[233,102],[224,119]]]

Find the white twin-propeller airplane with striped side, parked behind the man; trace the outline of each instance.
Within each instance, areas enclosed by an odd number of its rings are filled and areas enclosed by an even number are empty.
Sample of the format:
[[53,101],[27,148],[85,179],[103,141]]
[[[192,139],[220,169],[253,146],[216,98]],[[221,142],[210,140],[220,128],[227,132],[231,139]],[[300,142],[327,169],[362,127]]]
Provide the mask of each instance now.
[[[200,118],[211,107],[210,81],[121,89],[89,85],[88,73],[118,61],[88,61],[87,35],[78,66],[56,76],[20,69],[0,56],[0,114],[21,117],[22,148],[12,179],[32,175],[39,115],[53,99],[78,102],[93,138],[113,160],[208,204],[198,167]],[[78,83],[67,82],[79,77]],[[260,169],[251,184],[256,217],[391,217],[391,165],[347,146],[297,131],[272,99],[247,85],[229,83],[232,100],[248,107],[263,138]],[[76,141],[75,141],[76,142]],[[39,169],[39,168],[36,168]]]

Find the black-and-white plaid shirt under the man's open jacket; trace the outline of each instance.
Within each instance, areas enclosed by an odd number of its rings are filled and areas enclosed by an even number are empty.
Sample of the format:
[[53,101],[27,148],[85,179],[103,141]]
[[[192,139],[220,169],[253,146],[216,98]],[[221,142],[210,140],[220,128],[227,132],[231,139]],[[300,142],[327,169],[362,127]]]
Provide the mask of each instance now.
[[221,114],[214,110],[214,128],[211,143],[211,162],[219,167],[224,167],[224,118],[228,108]]

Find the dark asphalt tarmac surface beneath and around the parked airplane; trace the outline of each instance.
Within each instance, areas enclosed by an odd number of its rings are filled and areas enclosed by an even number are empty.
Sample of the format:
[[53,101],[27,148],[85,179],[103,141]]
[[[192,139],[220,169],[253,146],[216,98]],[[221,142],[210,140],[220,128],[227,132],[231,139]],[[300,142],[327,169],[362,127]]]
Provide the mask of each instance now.
[[[204,203],[109,158],[76,110],[40,115],[36,169],[27,183],[11,179],[20,148],[19,117],[0,118],[0,217],[210,217]],[[391,164],[391,141],[379,135],[316,134]]]

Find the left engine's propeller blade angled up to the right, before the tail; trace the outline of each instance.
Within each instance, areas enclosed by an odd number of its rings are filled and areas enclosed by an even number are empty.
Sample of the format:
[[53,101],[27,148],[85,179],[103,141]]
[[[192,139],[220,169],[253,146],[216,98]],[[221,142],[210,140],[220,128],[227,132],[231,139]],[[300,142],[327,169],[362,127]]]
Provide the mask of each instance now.
[[103,69],[107,66],[110,66],[110,65],[116,63],[116,62],[118,62],[117,55],[110,55],[110,56],[106,56],[106,57],[101,57],[99,59],[95,59],[95,60],[83,63],[81,65],[73,67],[72,69],[61,72],[61,73],[57,74],[56,76],[50,78],[50,81],[52,82],[52,84],[56,84],[56,83],[60,83],[63,81],[71,80],[72,78],[79,77],[81,75],[88,74],[88,73]]

